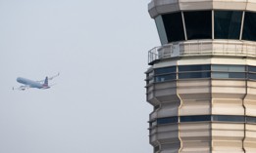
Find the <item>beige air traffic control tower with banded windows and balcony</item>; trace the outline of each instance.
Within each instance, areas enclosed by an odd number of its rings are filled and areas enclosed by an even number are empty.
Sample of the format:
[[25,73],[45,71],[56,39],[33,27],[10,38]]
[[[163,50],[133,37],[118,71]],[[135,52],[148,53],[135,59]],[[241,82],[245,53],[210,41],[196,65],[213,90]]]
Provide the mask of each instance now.
[[256,153],[256,0],[151,0],[154,153]]

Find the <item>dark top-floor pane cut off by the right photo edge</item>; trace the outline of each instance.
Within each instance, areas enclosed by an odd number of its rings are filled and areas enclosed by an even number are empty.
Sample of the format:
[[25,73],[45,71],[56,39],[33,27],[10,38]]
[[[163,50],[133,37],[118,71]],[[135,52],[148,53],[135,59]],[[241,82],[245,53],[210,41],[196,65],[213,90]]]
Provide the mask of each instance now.
[[242,39],[256,41],[256,14],[245,12]]

